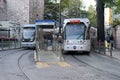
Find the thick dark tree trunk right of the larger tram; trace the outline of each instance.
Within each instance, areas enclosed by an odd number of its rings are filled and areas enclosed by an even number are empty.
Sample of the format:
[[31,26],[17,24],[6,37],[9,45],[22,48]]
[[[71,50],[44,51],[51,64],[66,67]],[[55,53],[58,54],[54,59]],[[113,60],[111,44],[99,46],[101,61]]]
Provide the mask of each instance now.
[[97,40],[98,42],[104,42],[104,2],[103,0],[97,0]]

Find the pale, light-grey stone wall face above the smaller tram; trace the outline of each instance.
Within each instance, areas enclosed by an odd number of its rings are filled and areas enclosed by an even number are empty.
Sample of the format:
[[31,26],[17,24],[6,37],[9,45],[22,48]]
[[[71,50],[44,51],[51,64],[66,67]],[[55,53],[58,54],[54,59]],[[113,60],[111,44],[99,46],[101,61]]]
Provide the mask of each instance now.
[[29,0],[7,0],[7,20],[29,23]]

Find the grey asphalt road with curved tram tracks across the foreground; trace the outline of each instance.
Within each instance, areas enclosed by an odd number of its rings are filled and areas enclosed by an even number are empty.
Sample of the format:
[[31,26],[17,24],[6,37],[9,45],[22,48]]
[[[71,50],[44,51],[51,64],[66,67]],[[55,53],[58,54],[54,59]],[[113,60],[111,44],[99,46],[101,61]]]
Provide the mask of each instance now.
[[33,60],[33,50],[0,51],[0,80],[120,80],[120,61],[95,53],[64,55],[64,62]]

